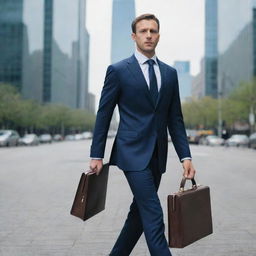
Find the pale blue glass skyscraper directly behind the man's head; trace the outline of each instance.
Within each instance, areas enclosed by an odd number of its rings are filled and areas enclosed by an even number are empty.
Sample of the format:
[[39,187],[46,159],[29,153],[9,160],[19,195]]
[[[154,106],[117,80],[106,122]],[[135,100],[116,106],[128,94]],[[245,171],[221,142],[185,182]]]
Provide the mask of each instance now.
[[135,18],[134,0],[113,0],[111,62],[130,57],[134,52],[131,23]]

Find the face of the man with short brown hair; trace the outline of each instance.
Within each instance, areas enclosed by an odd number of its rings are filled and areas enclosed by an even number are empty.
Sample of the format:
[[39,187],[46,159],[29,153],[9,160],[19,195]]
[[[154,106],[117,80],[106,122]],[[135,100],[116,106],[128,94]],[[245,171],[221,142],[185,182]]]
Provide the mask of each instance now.
[[155,54],[159,37],[158,25],[154,20],[139,21],[136,24],[136,33],[132,33],[138,51],[149,58]]

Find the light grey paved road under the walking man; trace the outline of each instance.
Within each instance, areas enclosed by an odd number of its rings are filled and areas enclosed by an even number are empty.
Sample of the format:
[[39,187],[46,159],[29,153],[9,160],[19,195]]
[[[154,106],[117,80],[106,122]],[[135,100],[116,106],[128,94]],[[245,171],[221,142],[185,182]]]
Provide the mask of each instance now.
[[[81,171],[88,166],[89,145],[79,141],[0,148],[0,256],[109,253],[132,196],[122,171],[112,167],[106,210],[86,223],[69,214]],[[185,249],[172,249],[173,255],[256,255],[256,151],[191,150],[197,182],[211,187],[214,234]],[[178,190],[181,173],[170,144],[159,191],[164,212],[166,196]],[[144,237],[132,255],[149,255]]]

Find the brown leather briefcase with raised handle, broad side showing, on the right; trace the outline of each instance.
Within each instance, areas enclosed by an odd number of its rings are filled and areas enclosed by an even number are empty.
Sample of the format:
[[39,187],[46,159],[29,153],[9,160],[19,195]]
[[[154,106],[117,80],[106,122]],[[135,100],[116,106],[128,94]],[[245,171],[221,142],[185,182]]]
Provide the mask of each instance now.
[[198,186],[184,190],[183,178],[178,193],[168,195],[169,247],[183,248],[212,233],[210,188]]

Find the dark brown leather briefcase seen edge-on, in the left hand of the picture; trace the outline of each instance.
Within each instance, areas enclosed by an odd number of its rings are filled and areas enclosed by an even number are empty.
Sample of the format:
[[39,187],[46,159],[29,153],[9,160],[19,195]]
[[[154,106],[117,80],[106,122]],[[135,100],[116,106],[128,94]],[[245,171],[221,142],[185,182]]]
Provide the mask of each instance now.
[[108,173],[108,164],[98,176],[82,173],[70,214],[85,221],[105,209]]

